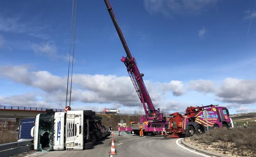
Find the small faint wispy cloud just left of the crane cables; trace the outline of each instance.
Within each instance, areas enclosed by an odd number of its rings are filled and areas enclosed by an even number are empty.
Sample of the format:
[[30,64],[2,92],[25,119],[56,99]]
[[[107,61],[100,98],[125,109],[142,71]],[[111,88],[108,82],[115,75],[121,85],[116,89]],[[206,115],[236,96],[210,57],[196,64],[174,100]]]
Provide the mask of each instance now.
[[33,51],[40,55],[46,55],[48,57],[56,57],[57,47],[53,42],[46,42],[41,44],[32,43],[31,47]]

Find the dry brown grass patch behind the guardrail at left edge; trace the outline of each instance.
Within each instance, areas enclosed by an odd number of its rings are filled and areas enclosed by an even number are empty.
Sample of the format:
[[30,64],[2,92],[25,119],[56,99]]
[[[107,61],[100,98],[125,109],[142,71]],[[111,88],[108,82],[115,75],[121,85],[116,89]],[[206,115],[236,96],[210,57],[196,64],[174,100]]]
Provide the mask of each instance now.
[[18,132],[11,130],[0,131],[0,144],[6,144],[9,142],[16,142],[18,140]]

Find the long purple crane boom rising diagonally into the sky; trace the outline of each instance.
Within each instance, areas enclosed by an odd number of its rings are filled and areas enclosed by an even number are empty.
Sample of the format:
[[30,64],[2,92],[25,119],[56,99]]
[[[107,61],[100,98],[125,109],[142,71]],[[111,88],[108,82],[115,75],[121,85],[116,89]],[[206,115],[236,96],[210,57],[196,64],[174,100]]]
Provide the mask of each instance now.
[[[135,58],[131,55],[130,53],[130,50],[128,48],[128,45],[126,43],[126,40],[123,36],[123,33],[117,23],[117,19],[114,15],[114,11],[110,5],[110,2],[109,0],[104,0],[105,4],[106,4],[106,7],[107,7],[107,11],[108,13],[110,14],[110,17],[112,19],[112,22],[114,24],[114,27],[116,28],[117,30],[117,33],[119,35],[119,38],[123,44],[123,48],[124,50],[126,51],[126,55],[127,57],[122,57],[121,61],[126,65],[127,67],[127,71],[130,75],[130,78],[133,82],[133,85],[135,87],[135,90],[139,96],[139,99],[140,101],[142,102],[143,104],[143,107],[144,107],[144,111],[146,113],[146,117],[148,117],[149,114],[151,115],[156,115],[157,118],[154,118],[155,121],[162,121],[163,120],[163,114],[160,113],[160,109],[158,108],[158,110],[155,109],[154,105],[153,105],[153,102],[149,96],[149,93],[146,89],[146,86],[143,82],[143,79],[142,77],[144,76],[143,73],[140,73],[139,72],[139,69],[138,69],[138,66],[137,66],[137,63],[135,61]],[[148,109],[146,107],[146,104],[148,106]]]

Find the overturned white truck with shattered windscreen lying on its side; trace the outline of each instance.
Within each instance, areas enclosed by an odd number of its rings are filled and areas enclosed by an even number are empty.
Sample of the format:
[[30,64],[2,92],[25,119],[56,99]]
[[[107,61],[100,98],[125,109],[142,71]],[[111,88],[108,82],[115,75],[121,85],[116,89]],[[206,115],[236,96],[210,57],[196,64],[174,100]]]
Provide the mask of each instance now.
[[36,116],[31,129],[34,149],[83,150],[93,148],[93,144],[110,135],[101,124],[102,118],[91,110],[53,112],[48,110]]

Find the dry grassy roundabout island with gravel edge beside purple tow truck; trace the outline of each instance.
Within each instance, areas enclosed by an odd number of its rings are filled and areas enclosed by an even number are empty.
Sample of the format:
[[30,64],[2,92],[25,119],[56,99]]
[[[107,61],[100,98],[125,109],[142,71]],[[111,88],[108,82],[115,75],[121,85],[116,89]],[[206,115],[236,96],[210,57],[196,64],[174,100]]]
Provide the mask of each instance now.
[[216,153],[233,157],[256,157],[256,128],[219,128],[184,140],[198,148]]

